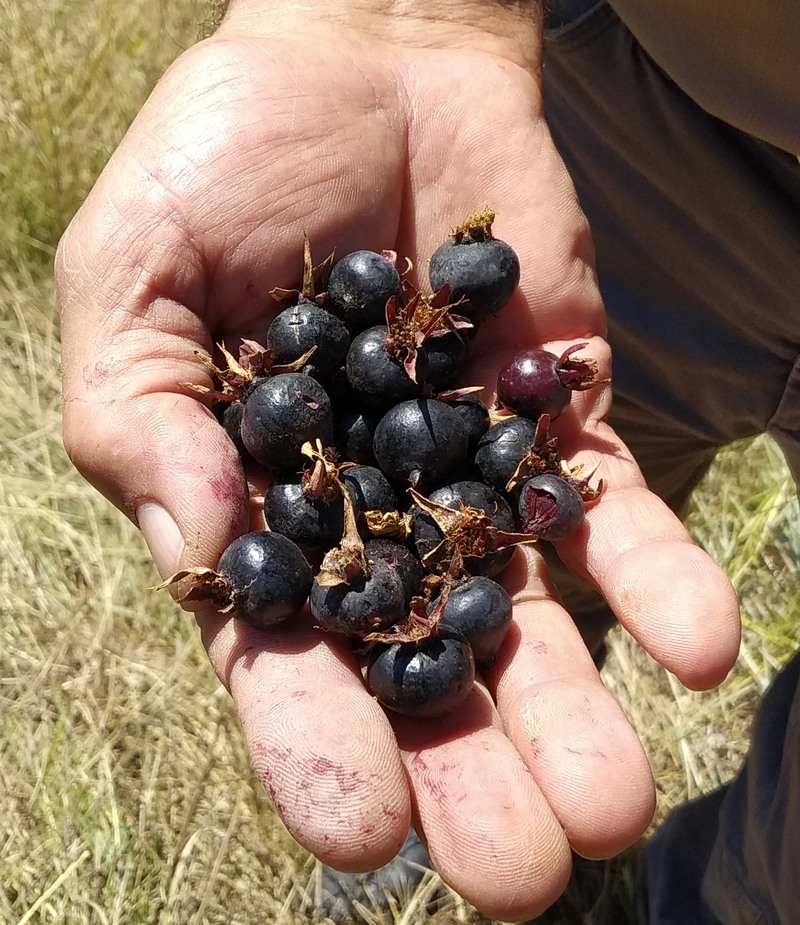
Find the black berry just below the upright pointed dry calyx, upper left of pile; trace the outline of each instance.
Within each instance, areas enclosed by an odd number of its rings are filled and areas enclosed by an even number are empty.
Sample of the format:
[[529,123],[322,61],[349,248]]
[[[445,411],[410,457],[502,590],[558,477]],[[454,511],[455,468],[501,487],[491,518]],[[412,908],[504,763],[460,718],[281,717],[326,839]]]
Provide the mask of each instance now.
[[273,363],[293,363],[312,354],[302,372],[326,381],[345,361],[350,334],[344,323],[311,299],[301,298],[296,305],[277,315],[267,330],[267,347]]

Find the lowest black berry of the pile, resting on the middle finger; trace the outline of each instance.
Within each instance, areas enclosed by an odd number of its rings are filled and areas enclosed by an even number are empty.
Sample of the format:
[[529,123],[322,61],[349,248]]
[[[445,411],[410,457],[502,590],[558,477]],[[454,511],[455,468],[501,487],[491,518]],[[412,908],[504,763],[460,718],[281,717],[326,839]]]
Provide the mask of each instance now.
[[366,680],[387,709],[433,718],[464,702],[475,681],[475,657],[467,640],[445,627],[418,643],[376,645]]

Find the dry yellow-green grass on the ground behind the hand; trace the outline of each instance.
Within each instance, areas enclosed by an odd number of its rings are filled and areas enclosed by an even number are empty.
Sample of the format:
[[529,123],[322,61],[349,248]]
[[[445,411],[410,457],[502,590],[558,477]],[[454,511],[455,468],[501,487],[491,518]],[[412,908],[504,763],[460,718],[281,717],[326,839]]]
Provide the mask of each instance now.
[[[314,862],[254,784],[236,718],[140,537],[61,447],[50,264],[191,0],[0,0],[0,922],[304,923]],[[736,672],[691,694],[621,633],[608,685],[653,756],[659,817],[728,779],[796,645],[800,511],[775,449],[727,452],[691,523],[733,577]],[[430,890],[435,882],[426,884]],[[629,858],[581,865],[550,923],[625,925]],[[397,920],[426,920],[424,894]],[[478,922],[449,898],[436,922]]]

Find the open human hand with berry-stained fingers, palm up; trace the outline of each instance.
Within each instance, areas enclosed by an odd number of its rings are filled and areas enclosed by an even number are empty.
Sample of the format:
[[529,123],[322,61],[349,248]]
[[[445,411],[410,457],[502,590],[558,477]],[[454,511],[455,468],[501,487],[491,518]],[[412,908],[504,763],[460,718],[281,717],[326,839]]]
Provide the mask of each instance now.
[[[610,375],[590,236],[542,118],[522,7],[460,3],[424,21],[348,9],[292,19],[241,0],[164,77],[59,250],[65,443],[165,575],[213,566],[248,527],[236,452],[181,384],[210,384],[196,350],[263,339],[266,293],[297,277],[304,233],[317,255],[393,248],[424,269],[488,204],[522,279],[481,328],[469,381],[491,384],[520,345],[576,341]],[[571,463],[602,461],[606,486],[559,552],[661,664],[712,685],[735,658],[735,598],[644,487],[604,423],[609,401],[608,388],[576,394],[553,426]],[[310,621],[265,632],[198,614],[298,841],[371,869],[413,817],[443,878],[501,919],[558,896],[570,848],[631,844],[654,799],[539,555],[519,552],[506,577],[515,626],[496,667],[465,709],[424,724],[390,721],[349,648]]]

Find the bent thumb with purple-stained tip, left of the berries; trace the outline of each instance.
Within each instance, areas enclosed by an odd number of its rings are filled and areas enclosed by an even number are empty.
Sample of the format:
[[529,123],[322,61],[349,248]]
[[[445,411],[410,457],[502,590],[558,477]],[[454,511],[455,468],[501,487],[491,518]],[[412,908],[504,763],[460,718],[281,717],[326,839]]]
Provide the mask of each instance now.
[[247,527],[248,492],[232,442],[184,385],[210,384],[195,355],[208,350],[208,331],[150,286],[76,272],[86,263],[74,246],[62,244],[56,272],[66,450],[139,524],[163,575],[213,566]]

